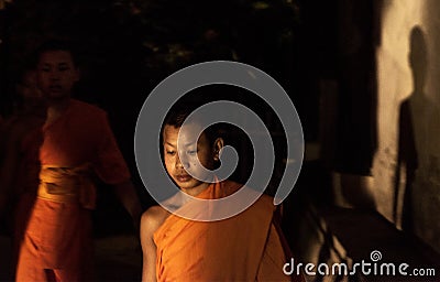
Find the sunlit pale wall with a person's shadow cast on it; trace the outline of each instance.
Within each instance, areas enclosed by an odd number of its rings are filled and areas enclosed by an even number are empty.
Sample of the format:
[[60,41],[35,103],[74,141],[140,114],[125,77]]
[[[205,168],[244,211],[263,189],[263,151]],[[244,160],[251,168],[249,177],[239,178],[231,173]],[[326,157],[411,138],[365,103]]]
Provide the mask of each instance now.
[[383,3],[373,169],[378,210],[440,251],[440,1]]

